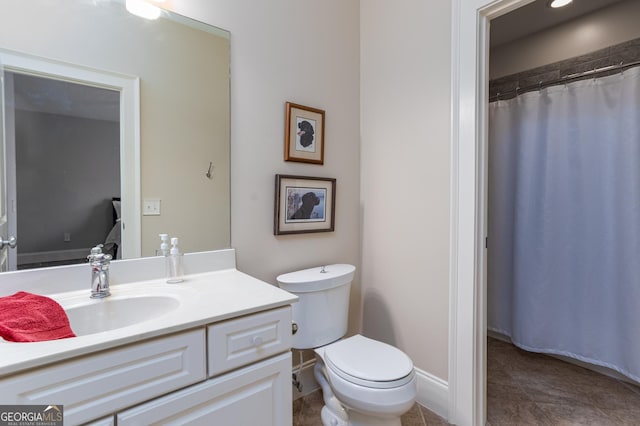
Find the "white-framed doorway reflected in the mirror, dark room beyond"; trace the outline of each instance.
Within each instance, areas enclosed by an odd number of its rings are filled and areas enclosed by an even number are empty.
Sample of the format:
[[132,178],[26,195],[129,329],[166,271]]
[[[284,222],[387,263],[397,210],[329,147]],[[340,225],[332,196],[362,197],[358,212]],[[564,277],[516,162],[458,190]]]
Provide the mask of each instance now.
[[97,244],[139,257],[139,78],[4,49],[0,65],[0,236],[25,237],[0,247],[0,269],[77,263]]

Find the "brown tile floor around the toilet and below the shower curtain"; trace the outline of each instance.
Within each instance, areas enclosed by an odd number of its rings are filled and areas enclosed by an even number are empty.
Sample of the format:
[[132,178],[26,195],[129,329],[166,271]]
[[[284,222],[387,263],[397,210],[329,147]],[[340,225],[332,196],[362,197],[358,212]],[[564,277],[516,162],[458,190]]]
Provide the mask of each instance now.
[[[491,426],[639,426],[640,387],[489,339],[487,423]],[[322,426],[318,390],[293,403],[293,426]],[[448,425],[416,404],[403,426]]]

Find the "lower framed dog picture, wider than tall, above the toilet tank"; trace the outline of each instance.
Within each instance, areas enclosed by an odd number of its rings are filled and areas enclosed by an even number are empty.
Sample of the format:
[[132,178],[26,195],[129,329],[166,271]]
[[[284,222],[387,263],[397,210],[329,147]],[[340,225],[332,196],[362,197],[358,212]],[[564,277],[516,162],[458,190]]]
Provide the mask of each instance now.
[[333,232],[336,180],[276,175],[274,235]]

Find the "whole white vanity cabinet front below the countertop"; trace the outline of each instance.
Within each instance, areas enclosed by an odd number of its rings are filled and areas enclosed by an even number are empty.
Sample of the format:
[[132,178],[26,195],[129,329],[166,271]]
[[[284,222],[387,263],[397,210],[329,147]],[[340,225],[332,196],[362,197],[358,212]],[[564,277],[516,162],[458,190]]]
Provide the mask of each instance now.
[[0,401],[65,425],[290,425],[290,348],[286,305],[2,378]]

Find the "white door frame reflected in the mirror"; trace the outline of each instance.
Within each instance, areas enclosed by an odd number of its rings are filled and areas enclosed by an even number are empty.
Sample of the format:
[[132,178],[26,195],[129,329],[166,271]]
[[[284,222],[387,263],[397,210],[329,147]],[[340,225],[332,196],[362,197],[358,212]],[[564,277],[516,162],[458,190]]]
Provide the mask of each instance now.
[[[122,258],[141,255],[140,79],[48,58],[0,49],[4,70],[120,92],[120,198]],[[19,238],[19,236],[18,236]]]

